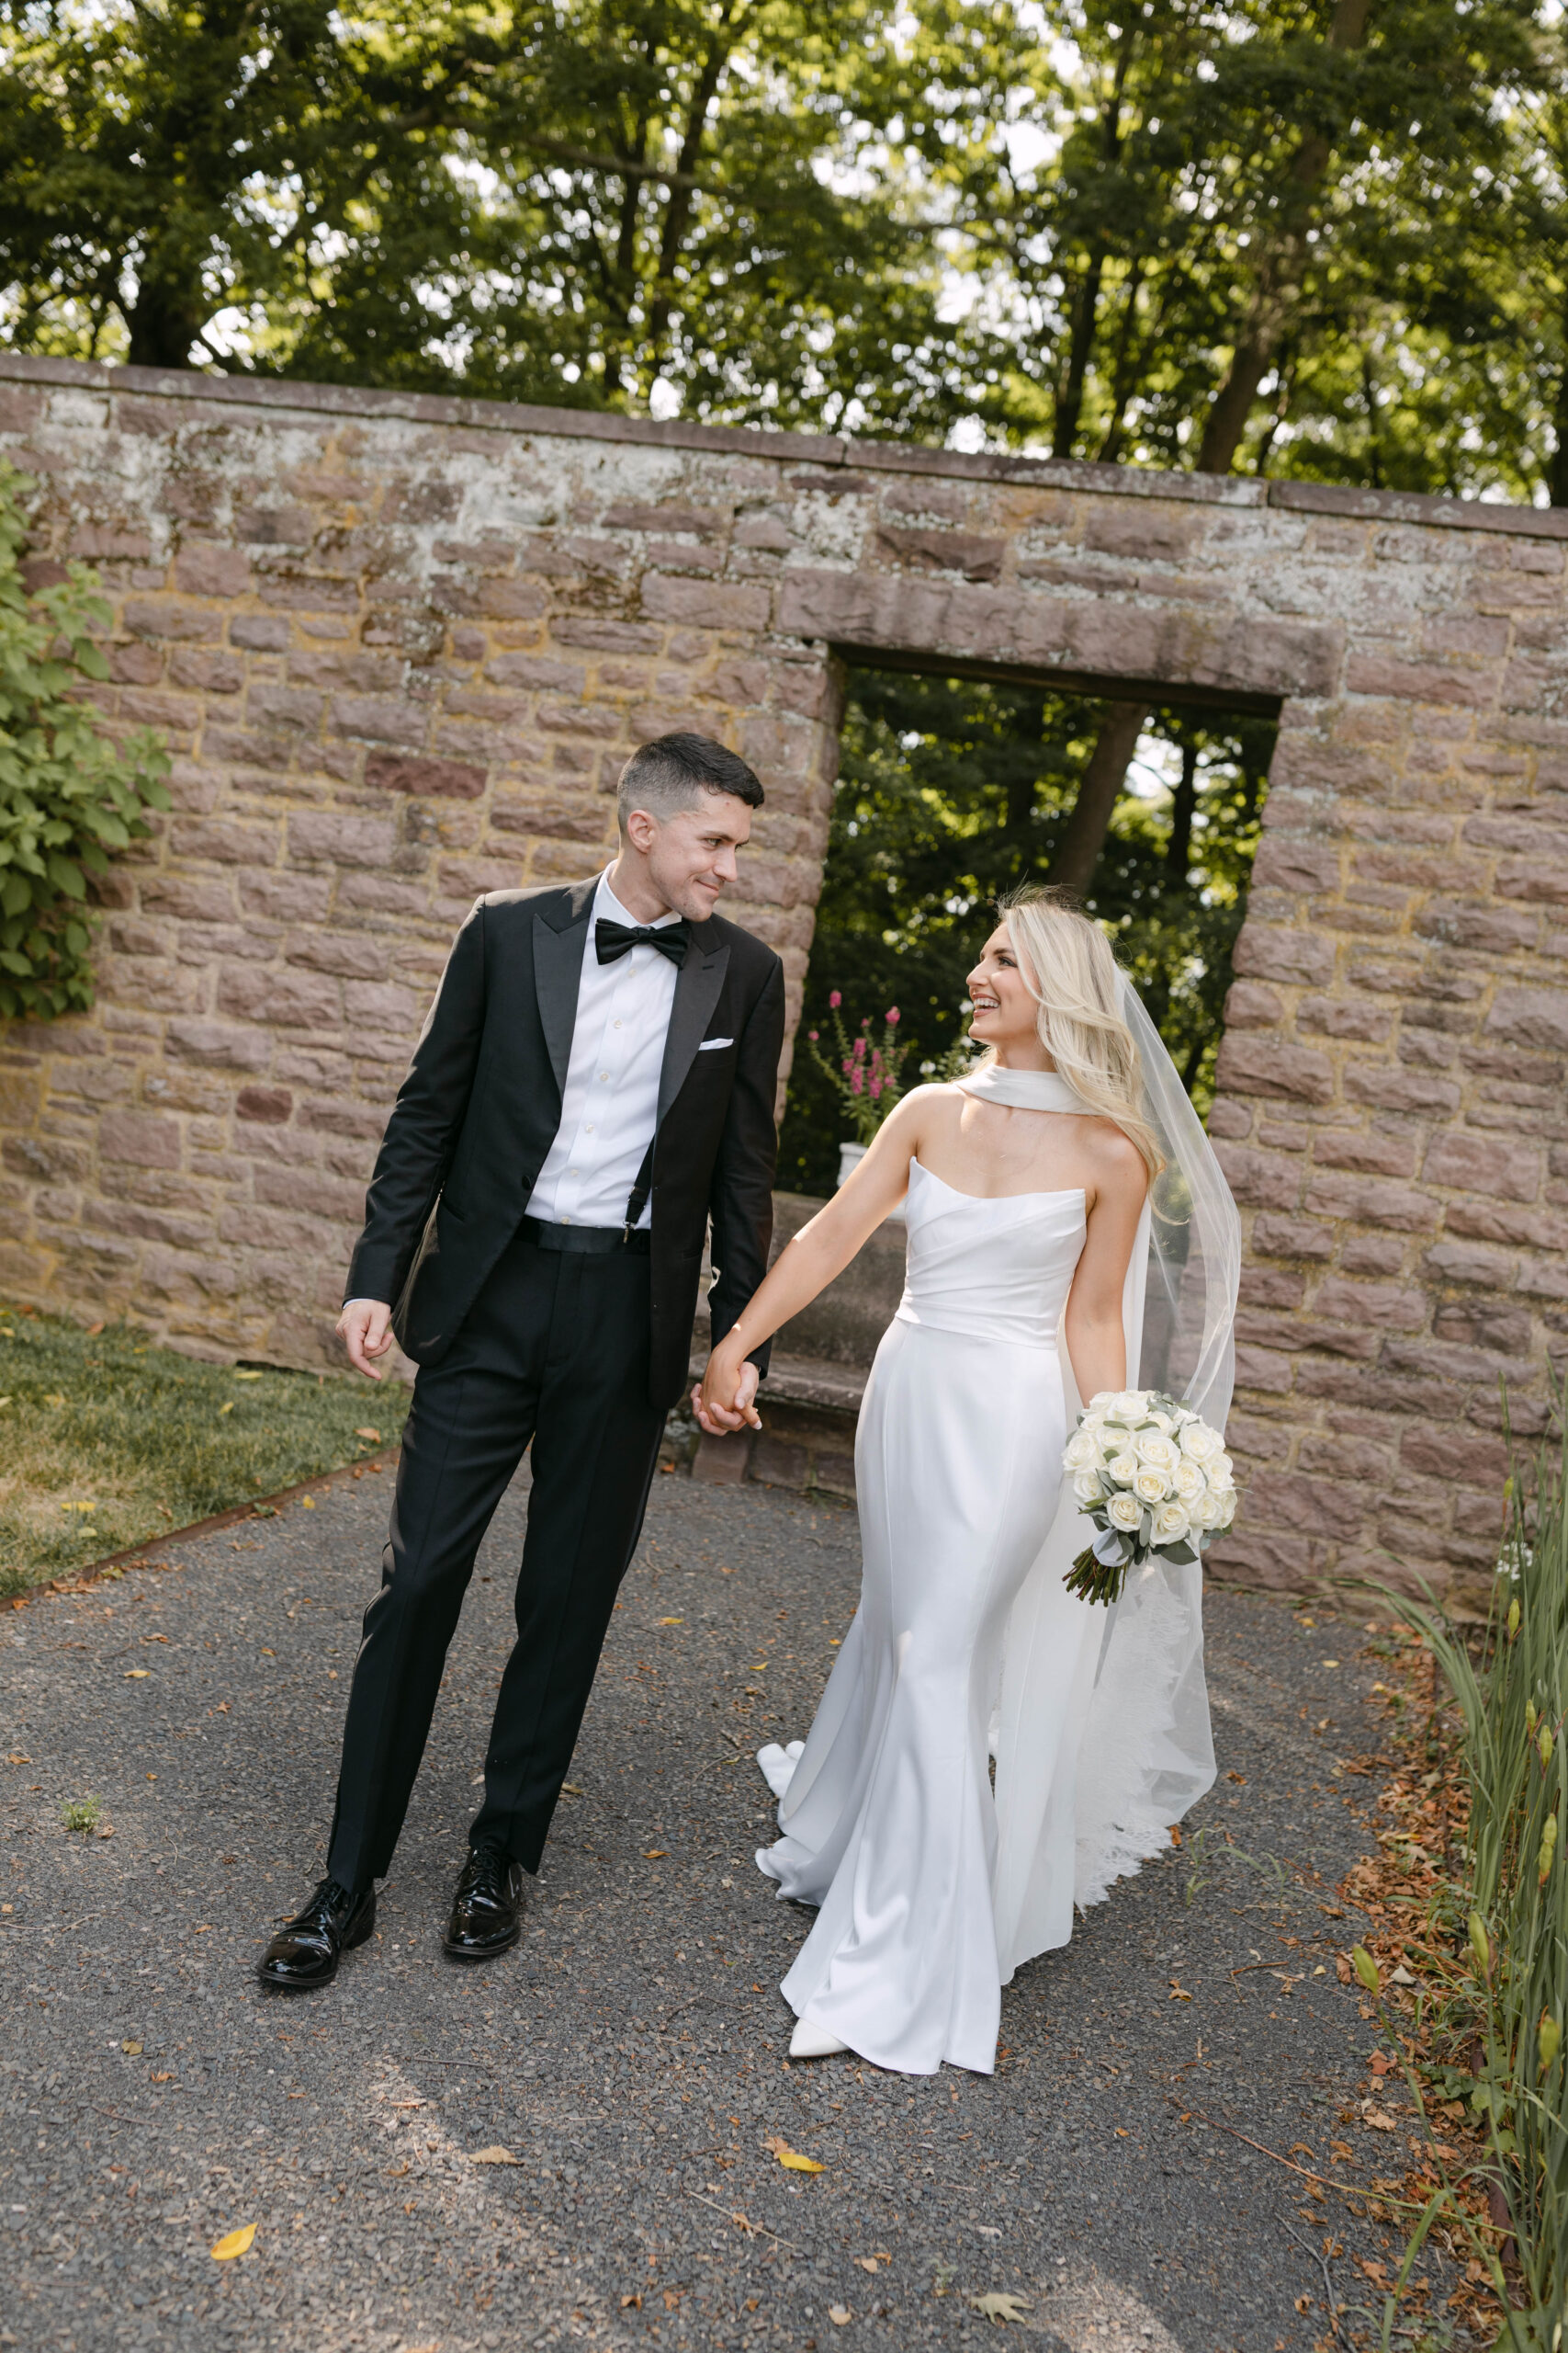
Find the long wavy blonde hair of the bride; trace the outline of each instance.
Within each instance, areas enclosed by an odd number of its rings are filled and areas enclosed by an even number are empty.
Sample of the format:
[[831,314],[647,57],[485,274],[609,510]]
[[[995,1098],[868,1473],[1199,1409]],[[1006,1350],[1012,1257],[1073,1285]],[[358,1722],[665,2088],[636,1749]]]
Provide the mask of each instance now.
[[1143,1059],[1117,1005],[1119,972],[1105,932],[1067,892],[1041,882],[1009,892],[997,915],[1039,1007],[1046,1054],[1074,1094],[1138,1146],[1150,1176],[1159,1176],[1166,1162],[1143,1115]]

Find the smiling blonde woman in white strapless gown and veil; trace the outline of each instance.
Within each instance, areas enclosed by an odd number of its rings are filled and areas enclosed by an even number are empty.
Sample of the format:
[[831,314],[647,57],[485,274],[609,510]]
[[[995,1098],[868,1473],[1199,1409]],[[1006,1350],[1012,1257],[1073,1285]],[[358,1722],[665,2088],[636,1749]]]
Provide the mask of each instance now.
[[[985,1061],[917,1087],[712,1351],[698,1419],[759,1426],[748,1351],[905,1202],[907,1285],[856,1438],[863,1584],[811,1734],[759,1765],[757,1854],[818,1908],[797,2059],[992,2073],[1001,1986],[1211,1786],[1197,1562],[1107,1612],[1063,1586],[1081,1398],[1229,1405],[1237,1214],[1105,934],[1023,889],[969,976]],[[1140,1362],[1143,1358],[1143,1362]],[[994,1758],[994,1786],[990,1762]]]

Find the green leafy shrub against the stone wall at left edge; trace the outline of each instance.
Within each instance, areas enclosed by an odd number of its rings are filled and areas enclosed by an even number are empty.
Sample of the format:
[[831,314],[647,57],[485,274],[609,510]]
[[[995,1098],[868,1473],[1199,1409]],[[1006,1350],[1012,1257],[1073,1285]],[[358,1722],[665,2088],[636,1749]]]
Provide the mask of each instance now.
[[169,807],[169,762],[146,729],[115,746],[85,694],[108,678],[96,574],[71,565],[28,595],[28,487],[0,461],[0,1014],[52,1019],[92,1005],[89,878]]

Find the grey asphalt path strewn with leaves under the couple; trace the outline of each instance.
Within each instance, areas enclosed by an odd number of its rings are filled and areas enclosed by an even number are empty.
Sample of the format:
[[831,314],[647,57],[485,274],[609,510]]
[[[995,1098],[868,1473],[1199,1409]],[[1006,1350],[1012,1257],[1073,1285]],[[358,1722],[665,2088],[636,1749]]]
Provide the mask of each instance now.
[[1375,1786],[1340,1765],[1380,1739],[1363,1626],[1211,1598],[1218,1788],[1004,1993],[994,2078],[790,2066],[776,1988],[809,1915],[752,1864],[752,1755],[811,1720],[853,1513],[656,1480],[524,1939],[458,1969],[440,1925],[520,1482],[376,1937],[320,1995],[266,1995],[256,1953],[322,1864],[388,1489],[322,1480],[0,1617],[0,2346],[903,2353],[1013,2327],[1295,2353],[1328,2344],[1326,2292],[1340,2341],[1371,2332],[1356,2259],[1392,2240],[1305,2179],[1396,2174],[1413,2129],[1373,2106],[1335,1967]]

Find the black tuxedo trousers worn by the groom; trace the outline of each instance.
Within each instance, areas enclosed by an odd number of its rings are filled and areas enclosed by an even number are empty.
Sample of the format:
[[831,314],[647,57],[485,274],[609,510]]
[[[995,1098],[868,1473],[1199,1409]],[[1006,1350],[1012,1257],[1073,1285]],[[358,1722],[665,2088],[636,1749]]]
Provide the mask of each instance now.
[[475,1553],[529,1440],[517,1642],[470,1840],[538,1871],[663,1426],[649,1405],[646,1254],[541,1249],[522,1228],[447,1355],[414,1381],[381,1593],[348,1692],[327,1854],[343,1887],[369,1887],[393,1861]]

